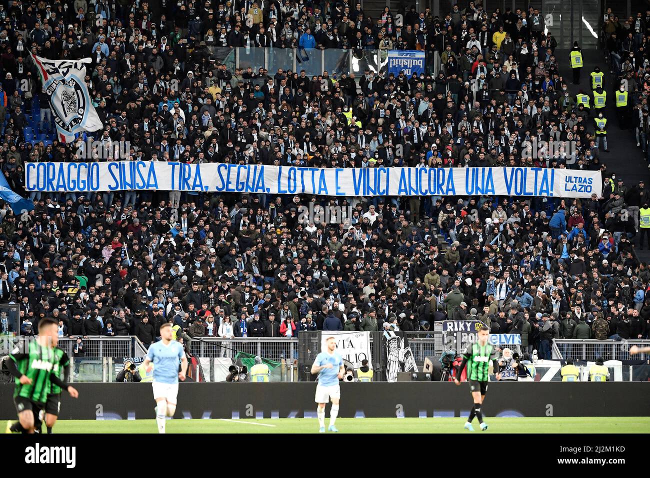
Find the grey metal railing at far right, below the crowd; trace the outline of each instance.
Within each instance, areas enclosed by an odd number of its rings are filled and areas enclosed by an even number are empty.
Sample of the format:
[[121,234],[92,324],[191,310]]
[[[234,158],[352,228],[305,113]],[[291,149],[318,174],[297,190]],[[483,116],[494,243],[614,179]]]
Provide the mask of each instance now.
[[648,347],[650,340],[595,340],[554,339],[552,357],[562,360],[568,357],[578,360],[650,360],[650,354],[630,356],[630,347]]

